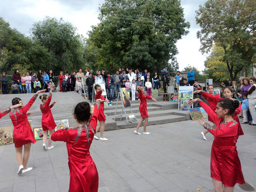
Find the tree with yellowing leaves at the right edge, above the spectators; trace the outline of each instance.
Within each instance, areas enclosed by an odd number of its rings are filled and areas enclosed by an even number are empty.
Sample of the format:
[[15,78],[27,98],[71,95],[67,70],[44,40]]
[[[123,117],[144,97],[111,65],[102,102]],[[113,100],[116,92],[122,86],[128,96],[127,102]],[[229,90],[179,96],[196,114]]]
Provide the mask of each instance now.
[[201,52],[209,53],[215,44],[222,47],[221,62],[231,80],[252,67],[256,61],[256,1],[208,0],[200,5],[195,18],[201,26],[197,32]]

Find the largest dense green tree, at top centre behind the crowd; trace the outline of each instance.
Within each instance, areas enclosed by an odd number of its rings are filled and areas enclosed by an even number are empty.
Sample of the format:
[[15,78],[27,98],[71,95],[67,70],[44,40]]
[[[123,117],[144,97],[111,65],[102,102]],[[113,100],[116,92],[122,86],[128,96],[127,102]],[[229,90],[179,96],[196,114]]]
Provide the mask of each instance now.
[[88,33],[98,68],[178,68],[175,43],[189,28],[180,0],[106,0],[99,10],[101,22]]

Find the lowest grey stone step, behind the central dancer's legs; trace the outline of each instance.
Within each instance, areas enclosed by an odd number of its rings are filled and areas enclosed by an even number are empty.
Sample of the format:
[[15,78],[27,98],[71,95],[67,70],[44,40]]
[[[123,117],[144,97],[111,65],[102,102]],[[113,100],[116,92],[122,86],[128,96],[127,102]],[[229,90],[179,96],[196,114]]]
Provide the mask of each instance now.
[[[138,120],[140,121],[140,119],[138,119]],[[172,123],[172,122],[184,121],[184,120],[186,120],[186,117],[180,116],[180,115],[166,115],[166,116],[158,116],[158,117],[149,117],[148,118],[148,126],[164,124],[164,123]],[[117,125],[117,129],[131,128],[131,127],[136,127],[138,125],[138,122],[131,123],[130,119],[128,119],[128,124],[127,124],[126,120],[122,120],[122,121],[116,121],[116,125]],[[142,126],[143,126],[143,123],[142,123],[141,127]]]

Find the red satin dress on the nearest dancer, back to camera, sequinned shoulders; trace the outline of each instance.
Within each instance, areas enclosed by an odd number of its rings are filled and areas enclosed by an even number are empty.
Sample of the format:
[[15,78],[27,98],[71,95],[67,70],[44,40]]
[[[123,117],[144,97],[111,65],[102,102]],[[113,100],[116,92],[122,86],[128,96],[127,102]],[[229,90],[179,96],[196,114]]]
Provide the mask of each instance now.
[[61,129],[52,134],[53,141],[67,142],[70,175],[68,192],[98,192],[99,176],[89,152],[96,132],[98,112],[95,105],[88,126]]

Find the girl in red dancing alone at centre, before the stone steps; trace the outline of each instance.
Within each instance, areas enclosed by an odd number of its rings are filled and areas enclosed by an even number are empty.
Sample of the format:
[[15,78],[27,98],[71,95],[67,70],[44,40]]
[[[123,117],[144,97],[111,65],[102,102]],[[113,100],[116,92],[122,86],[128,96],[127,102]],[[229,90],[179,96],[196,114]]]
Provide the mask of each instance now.
[[139,121],[136,129],[135,129],[135,133],[140,135],[141,133],[139,132],[139,128],[142,124],[142,122],[145,120],[144,122],[144,129],[143,129],[143,134],[150,134],[150,132],[147,132],[146,128],[147,128],[147,124],[148,124],[148,110],[147,110],[147,99],[151,99],[154,102],[157,102],[157,100],[151,96],[146,95],[145,93],[143,93],[143,86],[137,86],[138,91],[139,91],[139,98],[141,100],[141,104],[140,104],[140,112],[141,112],[141,120]]

